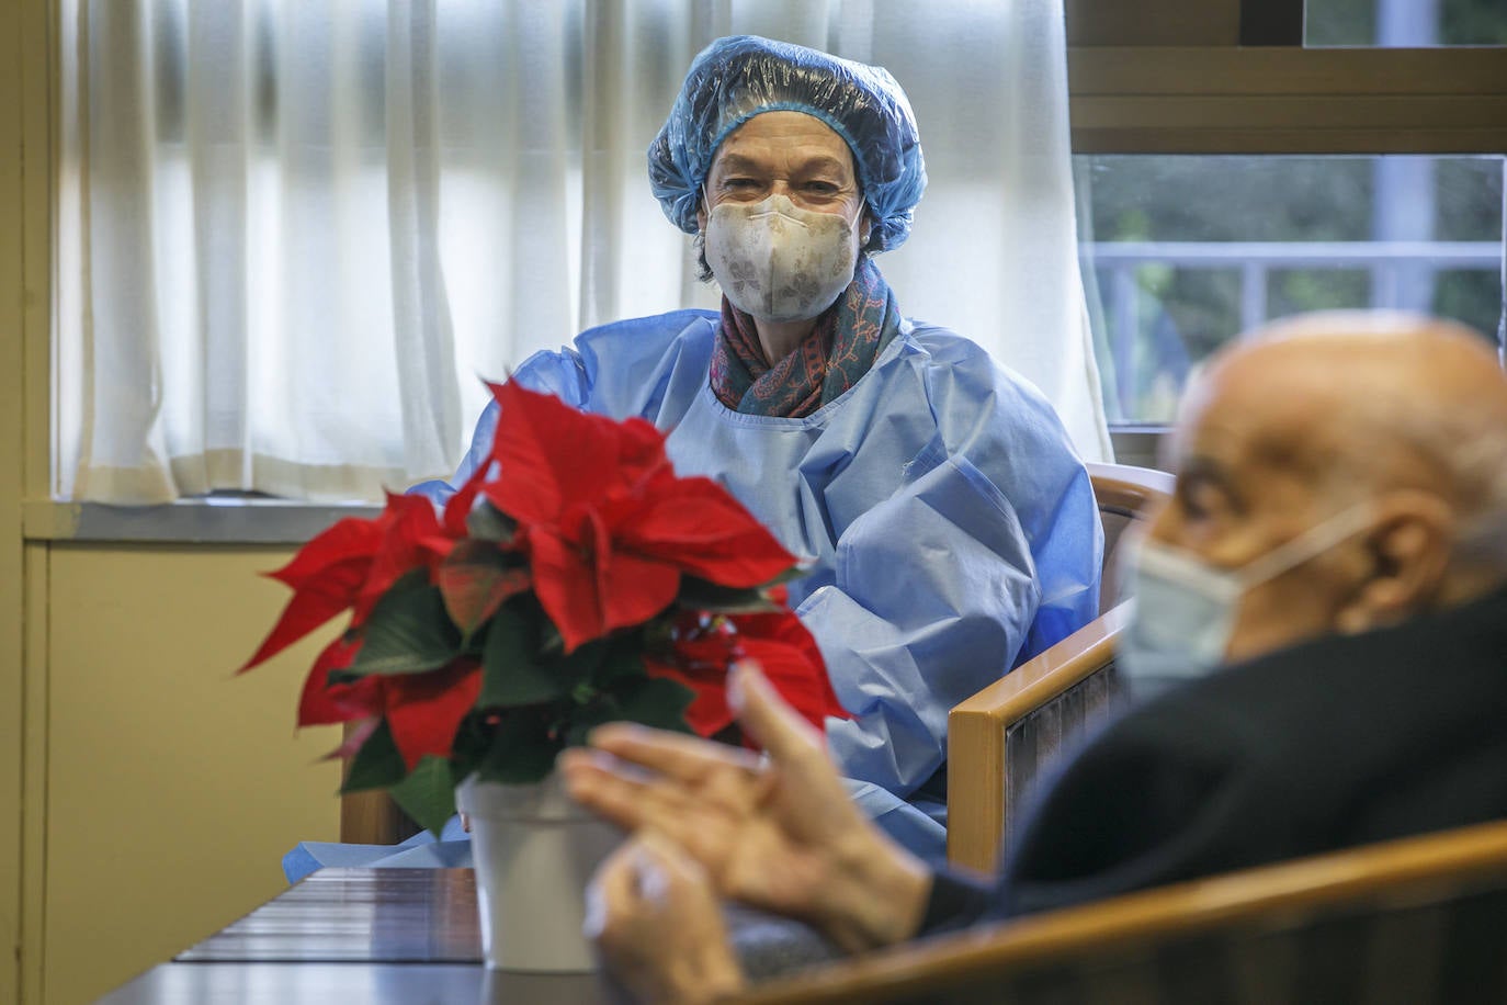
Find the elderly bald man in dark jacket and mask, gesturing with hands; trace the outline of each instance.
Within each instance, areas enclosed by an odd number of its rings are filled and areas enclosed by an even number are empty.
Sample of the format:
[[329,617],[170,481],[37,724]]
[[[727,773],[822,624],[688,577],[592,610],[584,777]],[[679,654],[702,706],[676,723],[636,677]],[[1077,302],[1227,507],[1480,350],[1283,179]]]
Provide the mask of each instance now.
[[1154,698],[1056,776],[998,884],[876,833],[740,667],[767,764],[621,726],[567,762],[640,835],[597,889],[619,973],[657,1000],[738,987],[717,895],[865,949],[1507,817],[1507,377],[1486,341],[1392,313],[1273,325],[1212,362],[1172,452],[1120,657]]

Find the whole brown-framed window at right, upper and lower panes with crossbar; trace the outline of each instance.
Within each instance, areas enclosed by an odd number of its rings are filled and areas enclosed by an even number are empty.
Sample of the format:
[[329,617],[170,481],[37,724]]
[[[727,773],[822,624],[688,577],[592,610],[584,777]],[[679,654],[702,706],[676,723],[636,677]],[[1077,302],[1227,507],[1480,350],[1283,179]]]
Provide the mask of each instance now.
[[1067,29],[1112,425],[1166,422],[1191,368],[1282,313],[1408,306],[1501,338],[1499,0],[1067,0]]

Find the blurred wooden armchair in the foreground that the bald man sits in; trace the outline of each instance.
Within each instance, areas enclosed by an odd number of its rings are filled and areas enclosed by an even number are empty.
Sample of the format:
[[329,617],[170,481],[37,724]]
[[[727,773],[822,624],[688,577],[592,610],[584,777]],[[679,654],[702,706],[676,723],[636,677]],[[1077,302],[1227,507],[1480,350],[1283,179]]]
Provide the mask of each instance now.
[[1502,1002],[1507,821],[975,928],[729,1000]]

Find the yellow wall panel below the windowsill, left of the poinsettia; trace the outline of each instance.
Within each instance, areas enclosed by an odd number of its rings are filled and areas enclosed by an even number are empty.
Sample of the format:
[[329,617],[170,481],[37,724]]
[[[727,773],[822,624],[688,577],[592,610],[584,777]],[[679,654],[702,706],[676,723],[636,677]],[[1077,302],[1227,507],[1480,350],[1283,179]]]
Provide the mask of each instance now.
[[50,1005],[92,1000],[226,925],[285,886],[283,851],[338,838],[339,768],[315,762],[339,737],[294,735],[316,645],[232,677],[286,598],[256,573],[283,561],[48,548]]

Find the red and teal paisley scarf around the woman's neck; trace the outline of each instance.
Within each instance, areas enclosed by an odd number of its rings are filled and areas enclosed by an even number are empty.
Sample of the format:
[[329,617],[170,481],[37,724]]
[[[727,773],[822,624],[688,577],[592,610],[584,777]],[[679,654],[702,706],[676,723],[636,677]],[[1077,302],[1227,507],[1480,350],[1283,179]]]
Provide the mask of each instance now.
[[764,360],[752,315],[723,297],[711,353],[711,390],[723,405],[744,414],[809,416],[856,384],[898,330],[895,294],[870,259],[821,312],[811,334],[773,366]]

